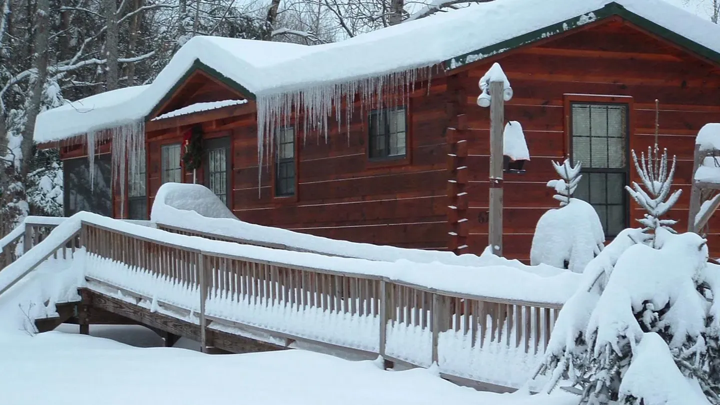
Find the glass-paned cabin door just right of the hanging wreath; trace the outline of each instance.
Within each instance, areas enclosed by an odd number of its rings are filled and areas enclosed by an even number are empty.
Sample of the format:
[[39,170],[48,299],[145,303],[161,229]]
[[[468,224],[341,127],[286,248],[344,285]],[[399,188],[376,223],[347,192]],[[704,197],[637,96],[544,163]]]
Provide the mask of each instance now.
[[204,141],[203,172],[205,187],[230,206],[230,137]]

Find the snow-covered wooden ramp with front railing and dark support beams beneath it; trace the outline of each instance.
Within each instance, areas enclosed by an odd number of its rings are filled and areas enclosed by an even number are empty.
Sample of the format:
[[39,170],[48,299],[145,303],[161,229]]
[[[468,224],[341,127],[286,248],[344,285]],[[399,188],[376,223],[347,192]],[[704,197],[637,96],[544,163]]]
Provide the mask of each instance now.
[[[312,253],[253,247],[277,259],[243,257],[238,244],[116,221],[89,215],[76,221],[77,228],[63,225],[32,248],[29,256],[37,260],[21,257],[12,264],[22,262],[29,269],[23,275],[48,257],[81,259],[84,266],[81,301],[60,305],[57,318],[37,320],[39,330],[62,322],[79,324],[85,333],[94,323],[142,324],[168,342],[197,340],[204,352],[300,348],[380,357],[402,368],[434,363],[448,380],[507,392],[543,357],[560,309],[372,271],[328,270],[326,256],[323,267],[308,267],[320,261]],[[310,260],[299,265],[287,259],[298,255]],[[378,265],[366,264],[369,270]]]

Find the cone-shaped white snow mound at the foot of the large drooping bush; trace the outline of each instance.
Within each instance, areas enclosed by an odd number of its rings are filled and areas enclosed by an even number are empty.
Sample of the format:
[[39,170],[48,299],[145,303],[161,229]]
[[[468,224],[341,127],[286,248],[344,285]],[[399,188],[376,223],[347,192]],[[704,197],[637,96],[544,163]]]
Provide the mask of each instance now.
[[642,398],[644,405],[710,405],[696,381],[680,373],[670,349],[657,333],[646,333],[620,383],[621,404]]

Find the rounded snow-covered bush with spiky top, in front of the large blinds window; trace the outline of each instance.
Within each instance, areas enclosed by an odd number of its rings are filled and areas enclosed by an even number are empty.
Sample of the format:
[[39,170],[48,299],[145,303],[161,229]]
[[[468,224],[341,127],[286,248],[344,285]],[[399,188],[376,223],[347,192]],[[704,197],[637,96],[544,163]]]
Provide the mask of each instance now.
[[598,213],[592,205],[572,198],[580,182],[580,169],[565,160],[563,164],[552,162],[561,177],[547,183],[557,193],[560,208],[544,213],[535,227],[530,250],[532,265],[549,264],[554,267],[583,272],[585,266],[603,249],[605,233]]

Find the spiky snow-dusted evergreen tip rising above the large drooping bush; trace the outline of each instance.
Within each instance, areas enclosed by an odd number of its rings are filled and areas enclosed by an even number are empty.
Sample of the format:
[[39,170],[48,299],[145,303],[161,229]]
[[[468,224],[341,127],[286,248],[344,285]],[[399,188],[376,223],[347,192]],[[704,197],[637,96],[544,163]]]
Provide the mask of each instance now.
[[651,244],[653,247],[655,247],[654,234],[657,229],[665,228],[667,231],[675,233],[672,226],[678,223],[678,221],[667,218],[662,219],[662,217],[678,202],[680,195],[683,193],[683,190],[675,190],[675,192],[670,194],[672,177],[675,176],[675,156],[672,156],[672,167],[670,168],[670,172],[668,172],[667,149],[662,152],[662,156],[658,156],[658,153],[659,148],[657,144],[654,148],[648,147],[647,160],[645,159],[645,153],[641,153],[640,161],[638,162],[635,151],[632,151],[635,169],[642,180],[644,188],[636,182],[632,183],[632,188],[625,186],[625,189],[629,192],[633,200],[647,211],[647,213],[644,214],[644,218],[637,221],[644,226],[643,231],[649,233],[651,236]]

